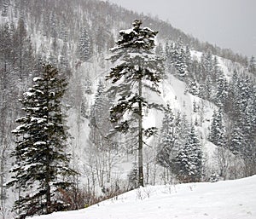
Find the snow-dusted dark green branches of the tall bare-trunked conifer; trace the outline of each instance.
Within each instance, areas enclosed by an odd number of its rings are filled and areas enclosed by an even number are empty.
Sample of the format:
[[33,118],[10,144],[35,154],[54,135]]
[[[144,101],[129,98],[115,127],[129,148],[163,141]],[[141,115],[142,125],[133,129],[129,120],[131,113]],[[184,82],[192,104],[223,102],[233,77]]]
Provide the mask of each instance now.
[[[121,31],[118,46],[111,49],[114,53],[111,60],[121,61],[107,76],[113,84],[119,82],[117,86],[113,85],[108,90],[113,95],[119,95],[118,102],[111,108],[110,120],[114,123],[123,118],[125,112],[137,114],[139,102],[142,107],[160,107],[148,103],[143,96],[133,90],[138,88],[140,80],[144,80],[148,84],[143,83],[143,87],[160,93],[158,84],[163,75],[162,61],[153,51],[157,32],[153,32],[148,27],[141,28],[141,24],[141,21],[136,20],[131,30]],[[122,123],[123,127],[126,127],[127,123]]]

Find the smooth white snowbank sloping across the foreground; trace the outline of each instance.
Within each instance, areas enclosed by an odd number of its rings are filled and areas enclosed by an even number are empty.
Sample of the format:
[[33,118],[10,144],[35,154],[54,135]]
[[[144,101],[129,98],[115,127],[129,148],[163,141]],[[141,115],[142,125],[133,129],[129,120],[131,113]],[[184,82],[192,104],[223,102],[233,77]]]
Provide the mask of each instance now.
[[256,176],[225,181],[143,187],[84,210],[33,219],[256,218]]

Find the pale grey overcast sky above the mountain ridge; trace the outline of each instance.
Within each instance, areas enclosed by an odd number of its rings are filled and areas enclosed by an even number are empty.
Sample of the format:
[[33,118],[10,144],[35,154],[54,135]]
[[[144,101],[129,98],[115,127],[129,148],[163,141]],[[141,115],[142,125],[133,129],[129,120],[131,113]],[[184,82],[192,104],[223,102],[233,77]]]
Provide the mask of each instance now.
[[248,57],[256,56],[256,0],[107,1],[139,13],[157,15],[201,41]]

